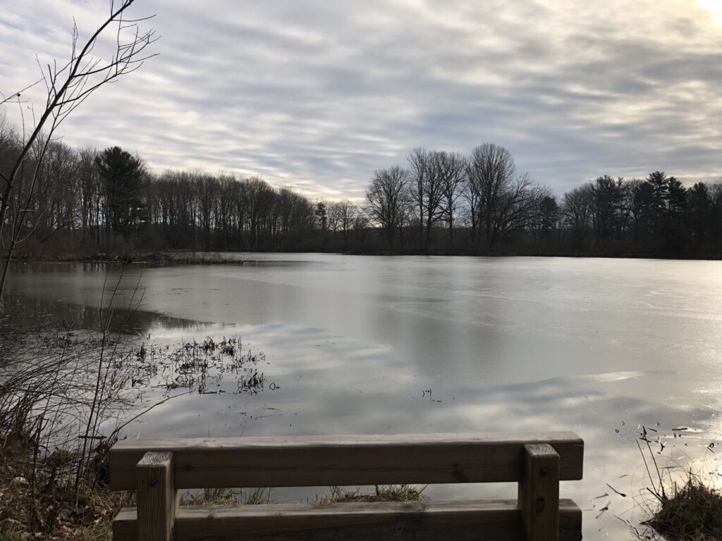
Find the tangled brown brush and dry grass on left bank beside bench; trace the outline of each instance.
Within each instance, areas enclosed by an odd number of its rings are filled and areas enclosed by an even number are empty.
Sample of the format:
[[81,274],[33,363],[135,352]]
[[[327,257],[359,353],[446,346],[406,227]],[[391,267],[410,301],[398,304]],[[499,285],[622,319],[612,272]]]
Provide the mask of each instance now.
[[2,541],[108,538],[123,504],[105,487],[114,428],[122,428],[113,419],[132,414],[134,395],[128,367],[113,362],[125,338],[100,334],[43,325],[3,340]]

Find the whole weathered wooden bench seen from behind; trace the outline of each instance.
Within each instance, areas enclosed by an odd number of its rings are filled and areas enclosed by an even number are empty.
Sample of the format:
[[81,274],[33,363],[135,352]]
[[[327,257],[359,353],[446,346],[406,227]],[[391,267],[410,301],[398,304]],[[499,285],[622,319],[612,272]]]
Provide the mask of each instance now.
[[[560,480],[582,478],[571,432],[124,440],[110,486],[136,491],[115,541],[580,540]],[[518,483],[512,501],[178,506],[191,488]]]

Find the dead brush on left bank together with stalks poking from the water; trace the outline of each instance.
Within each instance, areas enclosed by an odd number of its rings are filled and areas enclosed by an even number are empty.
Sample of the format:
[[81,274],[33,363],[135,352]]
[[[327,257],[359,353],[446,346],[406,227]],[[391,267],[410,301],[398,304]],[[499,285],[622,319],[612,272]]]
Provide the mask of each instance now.
[[[263,353],[245,350],[238,338],[160,348],[48,325],[4,338],[0,541],[109,540],[110,521],[127,504],[127,495],[107,488],[108,449],[123,427],[175,397],[226,392],[224,380],[228,392],[266,388]],[[261,501],[264,491],[233,498]]]

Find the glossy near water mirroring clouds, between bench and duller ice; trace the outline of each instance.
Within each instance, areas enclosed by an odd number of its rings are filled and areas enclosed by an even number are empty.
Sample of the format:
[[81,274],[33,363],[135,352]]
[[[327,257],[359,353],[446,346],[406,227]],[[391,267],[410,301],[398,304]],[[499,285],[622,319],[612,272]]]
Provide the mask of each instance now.
[[[196,336],[238,336],[244,347],[266,353],[266,374],[279,384],[275,392],[183,397],[154,410],[129,428],[142,437],[238,436],[292,434],[404,434],[464,431],[573,430],[586,444],[584,480],[564,483],[562,494],[585,511],[585,536],[621,535],[626,527],[615,514],[639,522],[632,496],[645,486],[645,469],[635,438],[638,424],[664,438],[661,463],[687,465],[705,457],[705,434],[671,437],[671,428],[705,426],[713,411],[684,408],[635,397],[624,384],[653,387],[664,371],[622,371],[560,377],[523,384],[483,384],[420,374],[386,346],[331,335],[320,329],[290,325],[215,327]],[[173,331],[160,340],[175,340]],[[184,333],[183,338],[191,335]],[[620,395],[619,390],[625,394]],[[432,397],[424,390],[432,390]],[[658,426],[657,423],[660,423]],[[656,429],[659,432],[655,433]],[[615,432],[619,430],[619,433]],[[714,432],[710,432],[713,437]],[[658,444],[653,446],[657,452]],[[609,483],[627,498],[614,494]],[[432,498],[515,495],[510,484],[439,485]],[[281,491],[282,498],[313,497],[319,490]],[[596,498],[604,493],[609,496]],[[601,507],[611,502],[599,519]]]

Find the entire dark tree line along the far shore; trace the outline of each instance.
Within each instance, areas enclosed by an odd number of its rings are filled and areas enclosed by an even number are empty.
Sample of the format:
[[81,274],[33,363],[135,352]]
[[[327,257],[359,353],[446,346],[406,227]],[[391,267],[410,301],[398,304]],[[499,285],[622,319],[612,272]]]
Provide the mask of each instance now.
[[[19,149],[19,137],[0,119],[0,170]],[[27,152],[8,201],[3,247],[14,239],[19,254],[722,253],[719,182],[685,187],[659,171],[643,179],[602,175],[558,197],[519,174],[510,152],[492,143],[468,156],[414,149],[404,166],[373,173],[363,201],[313,201],[259,177],[155,174],[117,146],[99,151],[52,141],[42,150]]]

